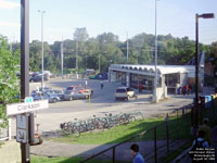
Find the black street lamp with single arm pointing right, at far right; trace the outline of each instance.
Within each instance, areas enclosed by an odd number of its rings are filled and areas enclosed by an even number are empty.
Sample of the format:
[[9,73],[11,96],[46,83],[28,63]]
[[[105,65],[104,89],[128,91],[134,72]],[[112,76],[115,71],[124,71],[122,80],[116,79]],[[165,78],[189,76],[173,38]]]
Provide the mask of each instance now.
[[199,18],[214,18],[214,13],[195,15],[195,106],[199,105]]

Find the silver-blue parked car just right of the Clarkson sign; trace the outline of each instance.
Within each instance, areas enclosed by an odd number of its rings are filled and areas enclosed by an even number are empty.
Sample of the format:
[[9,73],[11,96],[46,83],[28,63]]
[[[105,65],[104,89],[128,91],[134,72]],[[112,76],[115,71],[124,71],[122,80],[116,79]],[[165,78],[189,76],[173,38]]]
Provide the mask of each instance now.
[[47,99],[49,100],[49,103],[55,103],[61,100],[60,97],[58,97],[56,95],[51,95],[47,92],[37,93],[33,96],[33,98],[34,101]]

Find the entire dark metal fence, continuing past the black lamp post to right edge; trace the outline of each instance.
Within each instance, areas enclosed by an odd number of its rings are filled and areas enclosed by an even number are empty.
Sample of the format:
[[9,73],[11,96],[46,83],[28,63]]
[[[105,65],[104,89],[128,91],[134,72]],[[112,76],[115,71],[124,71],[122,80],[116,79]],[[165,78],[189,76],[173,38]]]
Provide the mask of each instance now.
[[170,113],[156,115],[162,121],[150,124],[150,126],[153,126],[150,129],[87,158],[80,163],[93,163],[94,160],[103,160],[106,163],[128,163],[132,159],[130,153],[132,142],[140,146],[140,153],[144,155],[146,162],[164,162],[168,154],[192,141],[194,138],[192,129],[194,118],[197,120],[197,125],[202,123],[203,117],[208,117],[212,126],[217,123],[215,118],[217,115],[216,106],[217,103],[215,102],[209,108],[201,105],[197,109],[189,104]]

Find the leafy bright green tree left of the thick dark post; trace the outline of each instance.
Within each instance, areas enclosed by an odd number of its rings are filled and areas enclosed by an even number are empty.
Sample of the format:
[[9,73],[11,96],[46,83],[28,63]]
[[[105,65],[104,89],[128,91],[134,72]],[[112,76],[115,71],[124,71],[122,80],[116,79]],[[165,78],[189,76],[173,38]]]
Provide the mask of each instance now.
[[[0,36],[0,118],[7,120],[5,105],[20,101],[20,51],[13,53],[9,49],[5,37]],[[5,127],[7,123],[1,127]]]

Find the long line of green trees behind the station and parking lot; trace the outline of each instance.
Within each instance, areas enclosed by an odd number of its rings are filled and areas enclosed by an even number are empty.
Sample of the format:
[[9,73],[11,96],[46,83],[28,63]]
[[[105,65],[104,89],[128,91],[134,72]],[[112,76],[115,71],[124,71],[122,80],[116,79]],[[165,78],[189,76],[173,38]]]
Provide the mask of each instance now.
[[[63,40],[65,73],[76,68],[76,54],[79,72],[87,68],[100,68],[101,72],[106,72],[110,64],[154,64],[154,35],[142,33],[126,41],[120,41],[113,33],[89,37],[84,27],[76,28],[72,37],[72,39]],[[170,34],[158,35],[157,42],[158,64],[181,65],[194,57],[195,41],[188,37],[176,38]],[[53,45],[43,43],[44,70],[53,73],[61,72],[61,43],[62,41],[54,41]],[[13,45],[13,50],[18,48],[18,43]],[[200,43],[200,50],[205,50],[206,58],[217,57],[217,42]],[[41,70],[41,42],[39,40],[33,40],[29,43],[29,65],[31,71]]]

